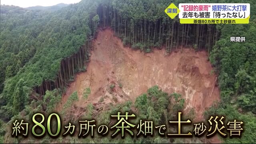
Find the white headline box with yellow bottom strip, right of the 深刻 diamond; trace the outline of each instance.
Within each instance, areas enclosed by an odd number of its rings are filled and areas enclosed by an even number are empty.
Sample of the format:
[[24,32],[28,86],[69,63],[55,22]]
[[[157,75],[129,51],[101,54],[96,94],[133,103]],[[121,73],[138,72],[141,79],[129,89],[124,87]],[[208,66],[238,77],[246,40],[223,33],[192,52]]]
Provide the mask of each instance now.
[[181,24],[248,24],[250,4],[179,4]]

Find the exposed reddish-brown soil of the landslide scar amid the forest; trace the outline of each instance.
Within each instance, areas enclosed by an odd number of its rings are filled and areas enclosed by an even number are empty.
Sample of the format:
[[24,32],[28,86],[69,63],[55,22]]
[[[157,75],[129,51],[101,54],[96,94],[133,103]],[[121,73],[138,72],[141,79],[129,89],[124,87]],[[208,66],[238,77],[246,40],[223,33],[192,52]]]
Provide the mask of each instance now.
[[[148,88],[158,85],[165,92],[182,94],[185,110],[194,108],[196,121],[203,120],[205,109],[220,99],[219,89],[215,86],[216,75],[211,70],[205,51],[195,52],[186,48],[182,52],[166,54],[164,49],[155,49],[152,53],[144,54],[124,47],[113,31],[106,29],[100,31],[93,42],[87,72],[76,75],[62,102],[75,91],[79,96],[77,106],[99,102],[102,96],[104,102],[134,101]],[[115,85],[112,91],[111,84]],[[118,84],[122,84],[122,88]],[[84,99],[83,91],[87,87],[91,94]],[[220,142],[216,137],[211,140]]]

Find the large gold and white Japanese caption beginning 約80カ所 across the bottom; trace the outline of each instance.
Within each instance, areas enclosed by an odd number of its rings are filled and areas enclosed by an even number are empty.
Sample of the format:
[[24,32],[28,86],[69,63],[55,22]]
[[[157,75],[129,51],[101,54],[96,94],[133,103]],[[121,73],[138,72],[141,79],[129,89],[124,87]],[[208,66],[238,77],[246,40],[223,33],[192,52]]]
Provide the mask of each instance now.
[[[49,116],[44,116],[41,113],[36,113],[32,117],[32,122],[26,122],[24,120],[14,120],[12,122],[12,136],[18,138],[19,136],[28,137],[31,134],[35,138],[44,138],[46,133],[50,138],[58,138],[60,136],[78,136],[78,138],[93,138],[96,134],[99,136],[110,136],[110,138],[125,138],[125,135],[131,137],[140,136],[167,136],[167,137],[202,137],[210,138],[216,134],[223,138],[241,137],[243,132],[244,122],[239,120],[225,121],[224,116],[210,116],[206,122],[192,122],[190,119],[182,120],[182,112],[178,112],[178,118],[175,120],[169,120],[168,125],[155,124],[152,120],[140,119],[137,123],[131,122],[136,118],[133,113],[117,112],[110,115],[113,121],[111,125],[98,124],[96,120],[81,119],[76,122],[63,123],[60,119],[60,115],[52,113]],[[55,118],[56,121],[53,121]],[[76,124],[74,124],[76,123]],[[168,132],[168,126],[178,126],[176,132]],[[192,126],[190,129],[183,130],[182,127]],[[188,128],[188,127],[187,127]],[[76,130],[77,129],[77,130]],[[108,133],[110,132],[110,135]]]

